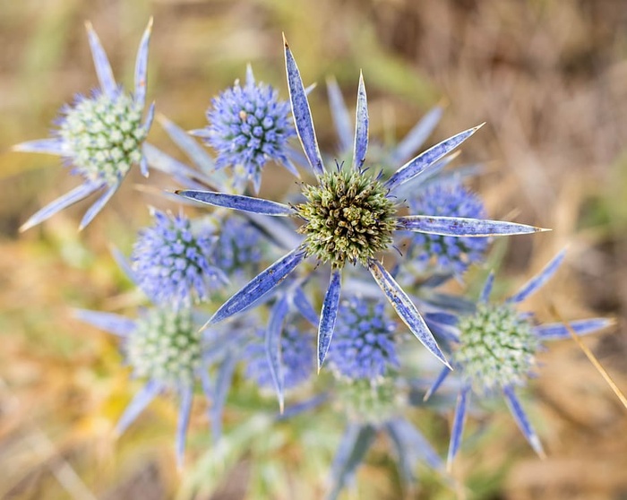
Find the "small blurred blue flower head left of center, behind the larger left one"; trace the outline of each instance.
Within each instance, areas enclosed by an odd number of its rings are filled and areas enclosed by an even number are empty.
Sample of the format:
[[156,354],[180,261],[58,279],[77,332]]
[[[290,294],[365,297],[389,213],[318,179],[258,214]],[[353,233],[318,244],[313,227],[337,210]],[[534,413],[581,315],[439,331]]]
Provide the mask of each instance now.
[[245,220],[229,217],[211,254],[214,263],[228,276],[253,268],[262,260],[259,231]]

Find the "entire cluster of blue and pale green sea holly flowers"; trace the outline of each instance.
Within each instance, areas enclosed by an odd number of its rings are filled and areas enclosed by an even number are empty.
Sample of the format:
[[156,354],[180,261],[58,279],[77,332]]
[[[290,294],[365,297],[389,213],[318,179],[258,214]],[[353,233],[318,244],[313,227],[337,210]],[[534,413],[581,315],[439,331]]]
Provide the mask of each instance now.
[[[409,407],[417,404],[408,397],[410,374],[421,364],[431,369],[424,363],[426,354],[438,360],[442,371],[425,371],[433,377],[425,401],[453,378],[450,386],[459,392],[451,408],[450,462],[460,449],[471,392],[479,398],[502,393],[522,433],[542,454],[516,390],[536,371],[543,341],[564,338],[569,331],[560,323],[538,324],[515,306],[545,285],[564,254],[503,303],[488,301],[493,274],[477,302],[443,291],[437,300],[429,298],[434,288],[450,279],[463,282],[469,266],[481,265],[491,238],[543,230],[487,219],[479,196],[464,185],[462,170],[448,168],[451,153],[481,125],[418,152],[442,115],[435,108],[397,147],[382,151],[377,146],[377,161],[372,161],[363,76],[354,132],[331,80],[339,154],[351,158],[344,162],[329,155],[331,161],[325,160],[308,91],[285,42],[289,99],[256,82],[249,66],[245,84],[236,81],[212,99],[209,125],[192,132],[212,153],[166,118],[160,120],[192,159],[192,166],[185,165],[145,142],[153,116],[152,106],[142,116],[150,28],[151,22],[128,94],[114,81],[88,24],[99,89],[63,108],[55,137],[16,146],[60,155],[83,179],[23,229],[105,189],[83,218],[84,228],[133,165],[146,176],[149,168],[165,172],[177,189],[164,196],[164,201],[174,198],[177,214],[151,209],[152,225],[139,231],[129,258],[118,259],[150,306],[136,319],[77,312],[85,322],[121,337],[128,364],[146,381],[118,430],[159,392],[176,393],[176,454],[182,464],[196,386],[210,401],[212,431],[219,439],[221,412],[241,369],[262,392],[276,394],[282,419],[317,405],[345,411],[347,427],[331,465],[330,497],[354,478],[380,433],[390,438],[402,478],[413,481],[417,461],[442,470],[440,456],[408,419]],[[304,179],[281,201],[255,195],[270,162]],[[197,207],[188,216],[182,207],[190,205]],[[571,327],[584,334],[608,324],[594,318]],[[316,376],[315,366],[328,375]],[[284,409],[286,397],[291,404]]]

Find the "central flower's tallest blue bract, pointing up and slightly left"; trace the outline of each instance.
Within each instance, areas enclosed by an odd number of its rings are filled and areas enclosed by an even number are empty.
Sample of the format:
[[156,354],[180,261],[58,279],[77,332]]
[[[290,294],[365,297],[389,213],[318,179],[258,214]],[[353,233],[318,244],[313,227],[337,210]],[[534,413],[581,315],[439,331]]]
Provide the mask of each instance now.
[[292,104],[292,114],[296,125],[296,134],[303,145],[305,155],[311,165],[316,176],[322,176],[324,173],[324,163],[318,147],[318,140],[315,137],[314,122],[312,120],[312,111],[309,108],[305,86],[300,77],[298,66],[291,50],[288,47],[288,40],[283,37],[285,44],[285,65],[288,73],[288,89],[289,100]]

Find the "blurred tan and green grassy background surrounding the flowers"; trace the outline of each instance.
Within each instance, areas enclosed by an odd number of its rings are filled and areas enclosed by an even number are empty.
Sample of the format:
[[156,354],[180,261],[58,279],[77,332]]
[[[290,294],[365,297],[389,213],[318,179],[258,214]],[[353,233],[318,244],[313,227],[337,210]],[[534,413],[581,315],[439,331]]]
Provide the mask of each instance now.
[[[114,438],[116,418],[139,385],[129,382],[116,341],[72,317],[72,307],[131,310],[137,299],[129,296],[109,248],[128,251],[136,229],[148,221],[146,203],[159,202],[126,183],[81,234],[76,228],[85,203],[18,233],[31,213],[75,185],[56,157],[10,148],[46,137],[58,108],[97,85],[84,21],[99,33],[117,80],[129,85],[150,15],[149,99],[185,129],[205,125],[210,98],[244,78],[249,62],[258,79],[287,97],[281,31],[305,84],[318,83],[312,107],[327,151],[336,144],[325,79],[335,75],[352,107],[360,69],[371,134],[383,142],[402,137],[435,104],[446,111],[430,143],[486,121],[464,144],[461,159],[485,164],[475,187],[490,216],[554,228],[510,241],[502,269],[506,285],[520,284],[568,246],[562,271],[528,306],[545,321],[556,321],[549,303],[569,319],[615,317],[614,329],[586,342],[627,391],[622,0],[4,1],[1,498],[251,497],[245,461],[223,466],[213,494],[185,488],[186,473],[177,474],[173,460],[171,401],[156,402],[126,435]],[[149,139],[178,154],[159,125]],[[573,342],[553,344],[541,362],[528,409],[545,442],[545,461],[528,448],[509,415],[487,415],[472,425],[496,429],[491,439],[468,443],[456,462],[454,476],[466,488],[432,480],[403,494],[393,464],[376,460],[380,453],[360,470],[365,487],[352,497],[627,498],[625,409]],[[198,408],[195,434],[205,426]],[[202,439],[192,438],[190,463],[207,453],[210,444]],[[446,432],[435,444],[444,453]],[[284,467],[291,460],[286,449],[289,444],[281,448]],[[288,470],[293,491],[308,485],[313,498],[322,496],[324,465]],[[377,486],[368,490],[373,479]]]

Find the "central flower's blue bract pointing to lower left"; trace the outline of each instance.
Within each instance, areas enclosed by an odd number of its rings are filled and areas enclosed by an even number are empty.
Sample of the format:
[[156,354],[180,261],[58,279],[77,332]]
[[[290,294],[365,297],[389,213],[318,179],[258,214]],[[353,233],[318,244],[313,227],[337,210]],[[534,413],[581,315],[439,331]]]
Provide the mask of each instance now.
[[[230,297],[216,313],[211,316],[209,323],[219,323],[228,317],[243,311],[253,302],[277,287],[288,274],[296,269],[299,263],[305,259],[305,252],[301,248],[295,248],[289,254],[281,257],[269,268],[260,272],[245,287]],[[205,325],[206,326],[206,325]]]

